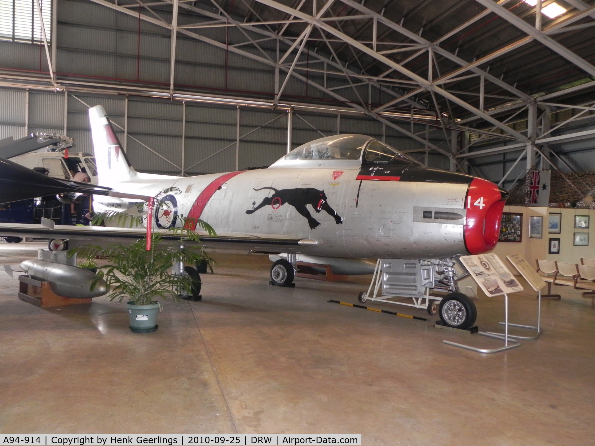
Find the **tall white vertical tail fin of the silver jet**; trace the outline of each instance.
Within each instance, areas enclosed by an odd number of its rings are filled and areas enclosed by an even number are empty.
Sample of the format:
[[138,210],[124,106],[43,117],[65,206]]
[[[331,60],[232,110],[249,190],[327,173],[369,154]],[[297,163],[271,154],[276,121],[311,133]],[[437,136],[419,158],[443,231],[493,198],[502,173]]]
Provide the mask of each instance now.
[[95,162],[101,186],[114,183],[126,183],[136,177],[136,171],[130,167],[120,140],[109,123],[105,109],[96,105],[89,109],[89,121],[95,149]]

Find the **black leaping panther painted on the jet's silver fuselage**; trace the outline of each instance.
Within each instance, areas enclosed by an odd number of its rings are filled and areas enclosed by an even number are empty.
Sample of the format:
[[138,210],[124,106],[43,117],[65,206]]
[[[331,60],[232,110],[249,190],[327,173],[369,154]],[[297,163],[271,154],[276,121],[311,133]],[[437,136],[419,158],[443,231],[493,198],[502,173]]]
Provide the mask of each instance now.
[[258,211],[258,209],[271,205],[274,209],[280,208],[285,203],[293,206],[296,211],[300,214],[305,216],[308,220],[308,224],[310,225],[310,229],[314,229],[320,225],[320,222],[316,221],[315,218],[312,217],[306,205],[311,205],[314,208],[314,211],[317,213],[320,211],[326,211],[328,215],[335,219],[337,225],[343,223],[343,218],[341,218],[337,212],[334,211],[327,203],[327,196],[324,193],[324,190],[314,189],[312,187],[308,187],[305,189],[281,189],[277,190],[274,187],[261,187],[260,189],[254,190],[262,190],[262,189],[271,189],[275,191],[275,193],[262,200],[262,202],[256,206],[254,209],[248,209],[246,213],[250,215]]

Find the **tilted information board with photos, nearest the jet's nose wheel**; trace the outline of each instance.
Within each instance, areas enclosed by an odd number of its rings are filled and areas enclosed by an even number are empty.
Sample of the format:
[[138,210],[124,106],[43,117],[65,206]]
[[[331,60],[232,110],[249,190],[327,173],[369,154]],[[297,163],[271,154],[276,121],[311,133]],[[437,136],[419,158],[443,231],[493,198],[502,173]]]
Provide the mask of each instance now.
[[502,260],[493,253],[463,256],[461,262],[486,296],[500,296],[523,290]]

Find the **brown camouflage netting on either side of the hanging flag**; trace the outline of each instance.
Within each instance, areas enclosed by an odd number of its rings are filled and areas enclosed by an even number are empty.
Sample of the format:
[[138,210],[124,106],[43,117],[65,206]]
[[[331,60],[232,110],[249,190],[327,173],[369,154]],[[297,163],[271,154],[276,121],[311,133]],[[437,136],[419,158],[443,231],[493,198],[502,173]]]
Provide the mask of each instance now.
[[[519,181],[510,191],[506,204],[528,206],[530,186],[531,172],[527,172],[525,181]],[[595,171],[578,172],[577,174],[562,174],[560,171],[552,171],[550,207],[595,209],[595,202],[591,202],[590,205],[585,203],[584,198],[587,195],[595,197]],[[560,206],[561,203],[563,206]]]

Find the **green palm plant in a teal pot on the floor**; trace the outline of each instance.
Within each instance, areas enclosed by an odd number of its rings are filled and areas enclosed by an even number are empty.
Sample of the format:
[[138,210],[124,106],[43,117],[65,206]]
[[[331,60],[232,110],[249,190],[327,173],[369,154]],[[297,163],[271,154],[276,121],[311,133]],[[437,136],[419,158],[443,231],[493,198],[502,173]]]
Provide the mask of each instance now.
[[[129,219],[130,225],[143,224],[138,216],[119,214],[115,215],[112,211],[98,213],[93,218],[93,224],[99,225],[113,218],[120,222]],[[185,223],[183,216],[178,221],[181,225]],[[209,235],[216,235],[206,222],[198,220],[198,225]],[[175,234],[176,239],[165,241],[162,236],[164,232]],[[158,328],[156,321],[161,310],[158,299],[180,301],[180,295],[192,296],[193,291],[200,286],[197,274],[180,274],[176,265],[206,262],[211,266],[213,263],[200,244],[199,234],[187,228],[175,227],[153,233],[151,249],[146,249],[146,246],[146,240],[140,239],[131,244],[115,244],[107,248],[85,245],[70,252],[70,255],[77,253],[87,259],[98,255],[109,259],[107,265],[97,266],[96,282],[99,279],[107,282],[107,297],[110,300],[126,300],[130,330],[135,333],[154,332]]]

